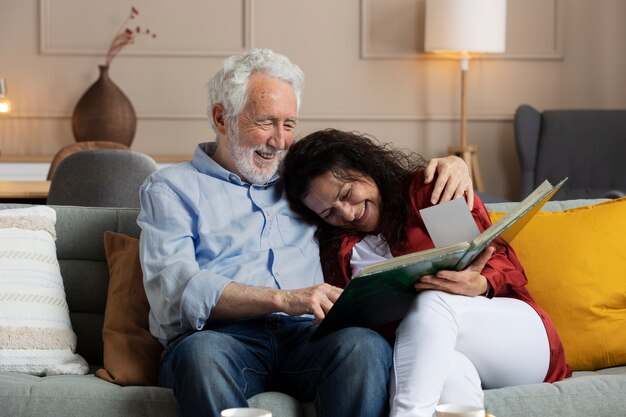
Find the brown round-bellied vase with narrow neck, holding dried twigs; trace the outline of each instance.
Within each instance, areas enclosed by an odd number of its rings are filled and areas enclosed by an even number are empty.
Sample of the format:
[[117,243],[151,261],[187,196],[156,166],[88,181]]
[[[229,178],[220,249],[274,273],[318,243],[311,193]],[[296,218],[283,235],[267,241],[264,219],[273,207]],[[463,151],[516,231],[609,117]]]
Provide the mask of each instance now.
[[135,138],[137,115],[126,94],[100,65],[100,77],[78,100],[72,115],[76,142],[107,140],[128,147]]

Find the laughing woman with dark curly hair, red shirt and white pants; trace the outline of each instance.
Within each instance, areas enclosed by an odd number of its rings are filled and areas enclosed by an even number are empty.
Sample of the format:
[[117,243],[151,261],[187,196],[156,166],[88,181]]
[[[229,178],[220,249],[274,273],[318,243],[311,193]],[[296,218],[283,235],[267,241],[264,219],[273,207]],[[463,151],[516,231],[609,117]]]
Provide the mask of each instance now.
[[[315,222],[326,282],[345,287],[368,264],[433,248],[419,210],[432,205],[419,155],[334,129],[293,144],[286,193]],[[491,222],[475,197],[482,232]],[[526,289],[513,249],[497,240],[463,271],[415,285],[398,325],[391,416],[432,417],[440,402],[483,405],[483,388],[568,375],[554,324]]]

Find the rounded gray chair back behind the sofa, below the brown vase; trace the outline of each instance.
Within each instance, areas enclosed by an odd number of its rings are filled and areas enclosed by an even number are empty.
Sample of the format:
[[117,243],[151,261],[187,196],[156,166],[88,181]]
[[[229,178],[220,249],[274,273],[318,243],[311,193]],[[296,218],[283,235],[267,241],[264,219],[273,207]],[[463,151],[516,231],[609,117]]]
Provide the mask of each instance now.
[[138,208],[139,187],[157,169],[154,159],[130,150],[73,153],[54,172],[46,203]]

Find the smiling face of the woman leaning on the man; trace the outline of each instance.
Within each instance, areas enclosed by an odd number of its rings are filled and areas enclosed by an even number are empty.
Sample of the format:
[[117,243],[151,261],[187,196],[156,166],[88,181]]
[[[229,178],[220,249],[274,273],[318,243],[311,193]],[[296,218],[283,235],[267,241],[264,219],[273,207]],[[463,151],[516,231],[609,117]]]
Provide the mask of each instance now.
[[315,177],[302,202],[328,224],[359,232],[373,232],[378,228],[381,215],[378,187],[367,175],[358,172],[349,174],[353,179],[340,179],[332,172]]

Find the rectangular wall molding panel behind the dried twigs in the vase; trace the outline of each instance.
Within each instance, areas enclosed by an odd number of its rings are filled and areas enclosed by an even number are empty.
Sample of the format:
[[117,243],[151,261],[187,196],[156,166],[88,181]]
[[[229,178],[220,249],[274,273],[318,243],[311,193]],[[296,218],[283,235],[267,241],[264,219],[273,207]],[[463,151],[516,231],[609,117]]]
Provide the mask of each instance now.
[[[112,16],[111,4],[116,2],[120,3],[116,10],[122,14]],[[143,23],[153,29],[160,42],[138,40],[135,45],[125,48],[120,55],[227,57],[254,47],[254,0],[229,0],[229,2],[186,0],[184,3],[169,0],[135,0],[135,3],[140,11],[137,23]],[[158,21],[148,22],[148,19],[145,19],[145,22],[141,21],[151,8],[157,7],[170,8],[171,13],[187,13],[184,20],[188,22],[188,26],[176,27],[169,19],[163,17]],[[68,10],[75,15],[68,18]],[[102,3],[81,0],[39,0],[40,53],[68,56],[105,55],[106,48],[115,35],[116,25],[124,21],[128,10],[128,2],[121,0]],[[234,20],[239,22],[238,27],[233,28],[226,23],[218,24],[219,16],[222,14],[227,16],[238,14],[239,17]],[[68,30],[67,25],[70,19],[76,22],[76,25],[71,27],[72,30]],[[228,19],[229,23],[232,21],[231,18]],[[99,28],[102,30],[97,30]],[[225,30],[228,33],[224,33]],[[167,44],[160,46],[164,39]]]

